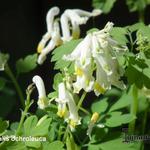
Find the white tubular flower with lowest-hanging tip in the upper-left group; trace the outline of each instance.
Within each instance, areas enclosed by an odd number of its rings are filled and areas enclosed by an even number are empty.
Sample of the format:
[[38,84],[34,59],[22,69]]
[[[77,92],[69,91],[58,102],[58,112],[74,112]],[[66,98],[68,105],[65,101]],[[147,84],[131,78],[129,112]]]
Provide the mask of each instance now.
[[58,46],[62,43],[62,40],[61,40],[61,36],[60,36],[60,30],[59,30],[59,24],[58,24],[58,21],[55,21],[54,22],[54,31],[53,33],[51,34],[51,40],[50,42],[48,43],[48,45],[42,50],[42,52],[40,53],[39,57],[38,57],[38,64],[43,64],[43,62],[45,61],[46,59],[46,55],[48,53],[50,53],[50,51],[52,51],[55,46]]

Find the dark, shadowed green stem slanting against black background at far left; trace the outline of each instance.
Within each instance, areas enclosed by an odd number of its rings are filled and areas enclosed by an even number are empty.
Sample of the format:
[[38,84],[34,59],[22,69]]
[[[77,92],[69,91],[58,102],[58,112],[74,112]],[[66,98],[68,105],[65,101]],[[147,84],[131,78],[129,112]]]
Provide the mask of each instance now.
[[22,90],[21,90],[21,88],[20,88],[20,86],[19,86],[19,84],[18,84],[18,82],[17,82],[15,76],[13,75],[13,73],[12,73],[10,67],[8,66],[8,64],[7,64],[6,67],[5,67],[5,73],[6,73],[6,74],[9,76],[9,78],[12,80],[12,82],[13,82],[15,88],[16,88],[16,91],[17,91],[17,93],[18,93],[18,96],[19,96],[19,98],[20,98],[20,103],[21,103],[22,107],[24,108],[24,107],[25,107],[25,103],[24,103],[24,96],[23,96]]

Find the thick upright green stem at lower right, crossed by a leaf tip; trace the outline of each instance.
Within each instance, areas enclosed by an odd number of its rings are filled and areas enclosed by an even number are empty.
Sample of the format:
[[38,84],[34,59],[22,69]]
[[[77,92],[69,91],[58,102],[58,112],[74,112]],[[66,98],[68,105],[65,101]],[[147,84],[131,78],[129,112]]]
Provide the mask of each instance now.
[[[133,85],[132,87],[132,95],[133,95],[133,101],[131,104],[131,111],[130,113],[134,116],[136,116],[137,111],[138,111],[138,89],[136,87],[136,85]],[[136,123],[136,119],[133,120],[132,122],[130,122],[129,124],[129,133],[134,133],[135,131],[135,123]]]

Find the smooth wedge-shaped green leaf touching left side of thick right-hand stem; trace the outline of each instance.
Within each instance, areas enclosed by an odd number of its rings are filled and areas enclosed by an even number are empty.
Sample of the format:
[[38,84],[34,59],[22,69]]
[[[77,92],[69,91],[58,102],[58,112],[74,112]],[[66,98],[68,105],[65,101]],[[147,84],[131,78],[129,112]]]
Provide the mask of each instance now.
[[128,93],[124,93],[121,98],[111,106],[109,112],[112,112],[114,110],[118,110],[124,107],[127,107],[131,104],[132,101],[132,97],[131,95]]

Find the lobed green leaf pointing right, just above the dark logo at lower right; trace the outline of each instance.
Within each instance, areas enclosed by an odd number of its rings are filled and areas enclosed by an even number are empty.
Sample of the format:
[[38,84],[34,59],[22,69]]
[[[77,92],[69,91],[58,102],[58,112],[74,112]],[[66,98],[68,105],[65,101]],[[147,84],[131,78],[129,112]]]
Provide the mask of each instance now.
[[123,114],[121,112],[111,112],[110,118],[106,118],[105,125],[108,127],[118,127],[122,124],[127,124],[136,119],[134,115],[131,114]]

